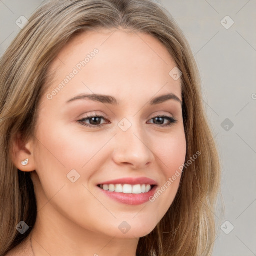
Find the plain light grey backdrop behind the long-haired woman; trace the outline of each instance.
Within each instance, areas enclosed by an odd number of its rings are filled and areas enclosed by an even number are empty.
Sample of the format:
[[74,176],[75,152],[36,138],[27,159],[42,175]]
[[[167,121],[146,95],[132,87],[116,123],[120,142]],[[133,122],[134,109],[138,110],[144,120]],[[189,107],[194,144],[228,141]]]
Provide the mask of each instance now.
[[[155,1],[167,8],[190,43],[220,152],[225,212],[222,220],[219,204],[212,256],[256,255],[256,1]],[[20,30],[15,21],[29,18],[42,2],[0,0],[0,56]]]

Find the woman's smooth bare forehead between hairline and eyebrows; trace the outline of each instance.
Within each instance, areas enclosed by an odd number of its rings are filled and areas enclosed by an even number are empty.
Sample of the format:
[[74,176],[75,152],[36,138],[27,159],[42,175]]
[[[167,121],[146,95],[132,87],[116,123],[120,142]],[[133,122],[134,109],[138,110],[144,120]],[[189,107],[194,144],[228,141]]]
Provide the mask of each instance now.
[[82,90],[111,92],[116,97],[118,93],[150,96],[161,89],[181,99],[180,79],[174,80],[169,75],[175,66],[164,45],[149,34],[91,30],[73,37],[53,60],[50,70],[56,72],[51,89],[75,70],[77,74],[65,86],[67,94]]

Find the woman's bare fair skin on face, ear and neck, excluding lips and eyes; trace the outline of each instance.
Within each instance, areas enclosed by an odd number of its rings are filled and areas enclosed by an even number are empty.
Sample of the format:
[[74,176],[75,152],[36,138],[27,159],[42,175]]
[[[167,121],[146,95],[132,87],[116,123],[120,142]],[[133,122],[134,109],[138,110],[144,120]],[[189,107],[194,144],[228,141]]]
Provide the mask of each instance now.
[[[94,48],[99,50],[95,57],[48,99],[47,93]],[[35,136],[26,142],[17,139],[14,145],[17,168],[32,171],[38,215],[29,237],[36,256],[135,256],[138,238],[150,233],[164,216],[181,176],[154,202],[140,205],[114,201],[96,185],[145,176],[161,187],[184,163],[181,103],[170,99],[147,104],[166,93],[182,99],[180,79],[169,75],[175,66],[156,38],[121,29],[80,34],[54,59],[51,69],[57,72],[40,100]],[[81,93],[111,95],[119,104],[89,99],[66,103]],[[78,122],[94,114],[105,117],[99,120],[101,127]],[[177,122],[164,127],[169,121],[155,121],[158,114]],[[131,123],[127,131],[118,127],[123,118]],[[91,119],[84,122],[93,125]],[[25,158],[29,162],[23,166]],[[80,174],[74,183],[66,176],[72,169]],[[123,221],[131,226],[125,234],[118,228]]]

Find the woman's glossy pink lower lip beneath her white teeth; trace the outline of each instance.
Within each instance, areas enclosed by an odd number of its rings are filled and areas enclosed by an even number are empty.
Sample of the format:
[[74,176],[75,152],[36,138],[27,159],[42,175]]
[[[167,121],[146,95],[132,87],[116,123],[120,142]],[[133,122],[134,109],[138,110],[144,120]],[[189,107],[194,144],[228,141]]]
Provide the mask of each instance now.
[[[98,187],[98,186],[97,186]],[[156,185],[147,193],[140,193],[140,194],[125,194],[125,193],[117,193],[117,192],[109,192],[108,190],[104,190],[98,187],[105,195],[108,197],[129,205],[139,205],[145,203],[149,200],[150,196],[153,196],[156,190]]]

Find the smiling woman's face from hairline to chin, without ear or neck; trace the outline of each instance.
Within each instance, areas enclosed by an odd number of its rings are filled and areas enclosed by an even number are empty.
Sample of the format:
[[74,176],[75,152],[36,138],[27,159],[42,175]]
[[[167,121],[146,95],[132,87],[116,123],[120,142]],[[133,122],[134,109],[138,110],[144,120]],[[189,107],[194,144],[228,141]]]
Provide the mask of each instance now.
[[[61,50],[35,129],[39,213],[112,237],[154,229],[174,200],[181,176],[166,184],[186,153],[181,83],[169,74],[175,66],[140,32],[89,31]],[[154,100],[165,94],[172,96]]]

